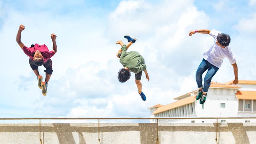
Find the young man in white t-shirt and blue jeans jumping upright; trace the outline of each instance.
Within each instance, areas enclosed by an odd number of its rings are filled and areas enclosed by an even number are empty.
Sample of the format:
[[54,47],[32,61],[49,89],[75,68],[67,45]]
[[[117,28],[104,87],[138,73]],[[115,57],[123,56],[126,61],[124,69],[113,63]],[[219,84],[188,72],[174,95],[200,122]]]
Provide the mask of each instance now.
[[[230,36],[228,34],[221,33],[217,30],[193,30],[189,32],[189,36],[192,34],[210,34],[214,38],[214,44],[203,53],[203,60],[196,71],[196,83],[198,85],[198,95],[196,100],[200,99],[200,104],[204,104],[207,96],[208,89],[211,84],[212,77],[219,70],[223,59],[228,58],[230,64],[234,69],[235,80],[233,84],[238,84],[238,69],[236,65],[236,58],[228,46],[230,43]],[[202,85],[202,74],[206,71],[204,77],[204,86]]]

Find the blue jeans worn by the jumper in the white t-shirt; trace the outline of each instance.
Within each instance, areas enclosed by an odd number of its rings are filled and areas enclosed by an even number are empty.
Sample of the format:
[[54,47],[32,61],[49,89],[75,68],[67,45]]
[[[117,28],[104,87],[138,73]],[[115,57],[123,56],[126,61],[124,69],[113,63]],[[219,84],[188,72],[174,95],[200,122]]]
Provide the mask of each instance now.
[[[206,75],[204,77],[204,87],[202,84],[203,78],[202,75],[206,71]],[[216,72],[219,70],[218,67],[210,64],[207,60],[203,59],[201,64],[198,66],[198,69],[196,71],[196,83],[198,88],[203,87],[203,92],[208,92],[208,89],[211,85],[212,77],[216,74]]]

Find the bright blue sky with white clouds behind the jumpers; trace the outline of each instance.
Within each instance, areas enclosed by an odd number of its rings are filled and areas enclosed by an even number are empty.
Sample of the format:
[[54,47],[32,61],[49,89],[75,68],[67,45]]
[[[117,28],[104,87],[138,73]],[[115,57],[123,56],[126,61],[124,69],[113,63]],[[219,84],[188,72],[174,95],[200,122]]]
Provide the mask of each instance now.
[[[20,24],[26,46],[52,50],[50,35],[57,36],[46,96],[16,43]],[[0,118],[148,118],[149,107],[197,88],[202,53],[214,41],[207,34],[188,36],[190,30],[229,34],[238,79],[256,80],[255,24],[256,0],[0,0]],[[144,73],[141,80],[146,101],[135,74],[118,82],[115,43],[127,43],[124,35],[137,38],[128,51],[138,51],[147,65],[150,81]],[[233,67],[225,58],[212,81],[230,80]]]

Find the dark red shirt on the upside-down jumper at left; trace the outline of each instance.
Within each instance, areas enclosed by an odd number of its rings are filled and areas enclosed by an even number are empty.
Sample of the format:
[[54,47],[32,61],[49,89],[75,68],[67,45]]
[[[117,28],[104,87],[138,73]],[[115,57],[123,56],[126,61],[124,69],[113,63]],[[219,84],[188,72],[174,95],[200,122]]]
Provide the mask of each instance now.
[[36,52],[36,50],[39,50],[42,54],[42,56],[44,57],[44,63],[47,62],[48,60],[50,60],[50,58],[55,54],[54,51],[49,51],[49,49],[47,48],[47,46],[45,44],[43,45],[39,45],[39,44],[35,44],[35,47],[31,48],[31,47],[26,47],[24,46],[22,48],[22,50],[24,51],[24,53],[26,55],[29,56],[29,58],[33,59],[34,57],[34,52]]

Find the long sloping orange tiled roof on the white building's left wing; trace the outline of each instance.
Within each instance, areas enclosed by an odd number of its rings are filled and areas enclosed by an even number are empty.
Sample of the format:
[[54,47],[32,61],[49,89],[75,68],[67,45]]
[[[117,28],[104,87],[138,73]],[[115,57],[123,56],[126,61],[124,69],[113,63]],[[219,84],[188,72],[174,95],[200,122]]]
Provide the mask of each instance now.
[[153,114],[157,114],[157,113],[160,113],[160,112],[165,112],[166,110],[170,110],[170,109],[173,109],[173,108],[177,108],[179,106],[184,106],[186,104],[191,104],[192,102],[194,102],[196,100],[196,95],[195,96],[190,96],[188,98],[184,98],[182,100],[178,100],[176,102],[173,102],[171,104],[167,104],[167,105],[164,105],[164,106],[161,106],[159,108],[157,108]]

